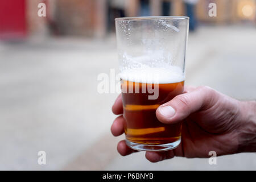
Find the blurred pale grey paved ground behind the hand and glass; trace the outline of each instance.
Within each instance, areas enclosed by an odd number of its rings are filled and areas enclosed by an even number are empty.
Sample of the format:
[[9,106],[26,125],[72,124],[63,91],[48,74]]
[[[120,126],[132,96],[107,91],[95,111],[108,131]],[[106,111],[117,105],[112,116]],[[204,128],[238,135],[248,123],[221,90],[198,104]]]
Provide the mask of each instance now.
[[[256,98],[256,28],[201,27],[189,35],[187,85]],[[117,68],[114,36],[0,43],[0,169],[256,169],[256,154],[160,163],[118,155],[110,125],[117,94],[97,93],[97,76]],[[38,164],[38,151],[47,164]]]

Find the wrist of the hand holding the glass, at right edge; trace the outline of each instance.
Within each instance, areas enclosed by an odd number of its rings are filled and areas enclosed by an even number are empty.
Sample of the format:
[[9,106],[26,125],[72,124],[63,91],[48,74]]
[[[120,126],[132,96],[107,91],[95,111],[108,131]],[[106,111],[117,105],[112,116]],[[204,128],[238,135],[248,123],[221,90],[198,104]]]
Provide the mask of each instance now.
[[256,101],[241,104],[243,119],[238,130],[238,152],[256,152]]

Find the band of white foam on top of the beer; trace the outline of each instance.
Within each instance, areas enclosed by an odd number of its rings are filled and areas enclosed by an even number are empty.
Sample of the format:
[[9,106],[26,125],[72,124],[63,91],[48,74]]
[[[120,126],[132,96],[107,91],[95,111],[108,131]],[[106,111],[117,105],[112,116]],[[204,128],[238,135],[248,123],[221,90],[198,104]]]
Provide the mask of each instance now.
[[140,69],[125,69],[120,73],[122,80],[148,84],[171,84],[184,81],[181,68],[168,66],[164,68],[142,67]]

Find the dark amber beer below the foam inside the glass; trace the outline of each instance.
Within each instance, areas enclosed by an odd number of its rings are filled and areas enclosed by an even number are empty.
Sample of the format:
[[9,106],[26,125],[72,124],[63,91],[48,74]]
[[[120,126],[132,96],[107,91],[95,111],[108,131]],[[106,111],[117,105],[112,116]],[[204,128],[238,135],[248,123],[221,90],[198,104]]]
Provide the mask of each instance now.
[[[170,82],[152,84],[121,79],[123,117],[126,121],[125,134],[129,142],[159,145],[180,140],[181,123],[164,124],[158,121],[155,114],[160,105],[184,92],[183,78],[167,78],[166,80],[170,80]],[[133,89],[130,89],[131,87]],[[148,96],[152,93],[142,93],[143,87],[144,89],[145,87],[146,89],[158,88],[158,98],[149,100]],[[139,88],[139,93],[135,93],[135,88]],[[129,92],[129,89],[133,92]],[[159,150],[161,150],[160,147]]]

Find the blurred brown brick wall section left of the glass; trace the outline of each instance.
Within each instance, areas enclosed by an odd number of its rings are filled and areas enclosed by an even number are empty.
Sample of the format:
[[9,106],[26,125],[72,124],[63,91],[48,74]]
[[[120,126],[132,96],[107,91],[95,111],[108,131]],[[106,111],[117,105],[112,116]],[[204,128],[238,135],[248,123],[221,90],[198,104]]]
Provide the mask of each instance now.
[[63,35],[102,36],[105,34],[104,0],[58,0],[55,21]]

